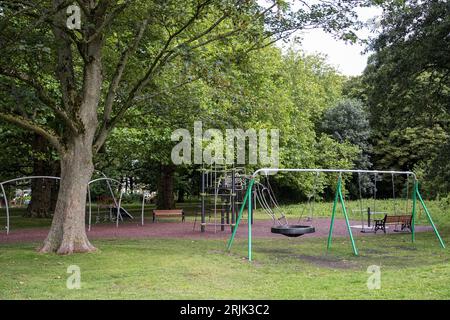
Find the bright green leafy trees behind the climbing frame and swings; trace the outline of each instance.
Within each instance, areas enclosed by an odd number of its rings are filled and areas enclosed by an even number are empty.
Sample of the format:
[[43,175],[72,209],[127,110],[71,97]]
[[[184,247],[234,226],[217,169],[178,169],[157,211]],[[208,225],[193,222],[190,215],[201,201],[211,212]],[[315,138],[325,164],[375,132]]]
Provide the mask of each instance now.
[[[228,50],[229,47],[225,51]],[[333,140],[317,128],[329,105],[342,99],[343,78],[323,57],[294,52],[282,55],[275,46],[250,53],[245,59],[236,60],[225,53],[221,57],[220,71],[211,72],[208,81],[190,83],[170,96],[159,96],[153,100],[154,104],[146,104],[139,112],[129,113],[113,131],[101,156],[122,159],[120,167],[125,170],[133,168],[131,162],[135,162],[136,181],[145,181],[147,188],[161,193],[163,190],[157,185],[159,163],[170,163],[172,131],[179,128],[192,131],[194,121],[201,120],[204,130],[221,129],[224,135],[228,128],[279,128],[280,165],[284,167],[353,166],[358,148],[350,142]],[[252,171],[261,166],[246,167]],[[166,176],[164,181],[174,186],[183,185],[185,179],[198,182],[197,169],[195,165],[178,167],[172,178]],[[284,194],[306,197],[314,187],[314,180],[313,176],[280,175],[274,183],[292,191]],[[334,181],[322,184],[330,183]],[[199,186],[194,185],[193,189]],[[165,193],[164,199],[170,198],[170,205],[174,202],[173,194]]]

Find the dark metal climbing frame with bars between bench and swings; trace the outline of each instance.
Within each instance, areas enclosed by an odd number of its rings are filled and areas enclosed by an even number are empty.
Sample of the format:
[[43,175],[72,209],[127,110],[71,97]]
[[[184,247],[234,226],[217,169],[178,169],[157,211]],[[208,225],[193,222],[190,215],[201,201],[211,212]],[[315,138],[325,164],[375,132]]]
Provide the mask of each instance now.
[[[247,189],[248,176],[244,168],[211,166],[201,172],[201,232],[208,225],[214,232],[225,230],[226,226],[234,229],[239,206]],[[208,221],[207,221],[208,218]],[[212,219],[211,219],[212,218]],[[194,221],[194,229],[197,217]]]

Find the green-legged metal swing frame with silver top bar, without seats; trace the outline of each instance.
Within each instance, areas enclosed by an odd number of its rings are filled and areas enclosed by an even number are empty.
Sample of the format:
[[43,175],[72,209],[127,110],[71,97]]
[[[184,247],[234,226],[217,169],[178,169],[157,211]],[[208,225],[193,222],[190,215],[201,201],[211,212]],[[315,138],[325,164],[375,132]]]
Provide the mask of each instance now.
[[336,192],[334,196],[334,202],[333,202],[333,209],[331,213],[331,222],[330,222],[330,229],[328,232],[328,240],[327,240],[327,250],[331,249],[332,244],[332,237],[333,237],[333,228],[334,228],[334,222],[336,217],[336,209],[338,206],[338,202],[340,202],[342,207],[342,213],[345,218],[345,223],[347,226],[347,231],[350,237],[350,242],[352,245],[353,254],[355,256],[358,256],[358,249],[356,247],[355,239],[353,237],[352,229],[350,226],[350,221],[348,218],[347,208],[345,206],[345,200],[344,195],[342,193],[342,173],[390,173],[390,174],[408,174],[414,176],[414,191],[412,192],[411,198],[412,198],[412,219],[411,219],[411,241],[415,242],[416,240],[416,233],[415,233],[415,221],[416,221],[416,202],[419,200],[420,204],[422,205],[423,210],[425,211],[425,214],[427,216],[428,222],[430,223],[431,227],[433,228],[434,234],[436,235],[436,238],[439,241],[439,244],[442,248],[445,248],[444,241],[441,238],[441,235],[439,234],[436,225],[433,222],[433,219],[431,217],[431,214],[423,201],[423,198],[419,192],[419,182],[416,178],[416,175],[413,172],[402,172],[402,171],[374,171],[374,170],[340,170],[340,169],[259,169],[255,171],[255,173],[252,175],[247,192],[245,193],[244,200],[242,202],[242,205],[239,209],[239,215],[236,220],[236,226],[233,228],[233,233],[231,234],[230,239],[227,243],[227,250],[231,250],[231,247],[233,245],[234,239],[236,237],[237,230],[239,228],[239,224],[242,220],[244,209],[247,206],[248,209],[248,247],[247,247],[247,257],[249,261],[252,261],[252,217],[253,217],[253,208],[252,208],[252,191],[253,191],[253,185],[255,183],[256,176],[260,172],[278,172],[278,171],[285,171],[285,172],[338,172],[339,178],[336,186]]

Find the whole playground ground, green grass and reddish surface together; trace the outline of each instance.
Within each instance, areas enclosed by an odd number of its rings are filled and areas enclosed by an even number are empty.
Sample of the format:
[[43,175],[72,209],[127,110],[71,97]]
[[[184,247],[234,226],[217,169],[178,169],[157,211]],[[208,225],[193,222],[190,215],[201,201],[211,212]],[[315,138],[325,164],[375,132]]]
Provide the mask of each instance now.
[[[375,204],[373,199],[365,201]],[[408,199],[396,204],[392,199],[376,201],[382,212],[392,212],[395,206],[408,204]],[[91,208],[92,212],[96,212],[96,205]],[[133,219],[92,224],[88,235],[100,250],[87,255],[54,256],[34,251],[47,236],[51,220],[41,219],[30,225],[20,214],[21,210],[15,208],[11,210],[10,232],[0,233],[0,267],[4,275],[0,280],[0,298],[448,298],[446,279],[450,275],[450,254],[439,246],[425,211],[417,208],[412,242],[410,231],[399,232],[394,225],[388,226],[386,233],[361,232],[361,224],[367,216],[361,221],[360,213],[351,209],[360,205],[358,200],[346,202],[358,256],[351,250],[347,221],[339,208],[334,218],[333,246],[327,250],[333,202],[317,202],[313,211],[310,211],[310,203],[272,208],[271,213],[283,212],[281,220],[314,226],[314,232],[301,237],[271,232],[280,219],[274,220],[274,216],[266,212],[267,208],[257,205],[253,210],[252,262],[247,257],[248,210],[238,210],[245,214],[237,216],[236,222],[243,221],[239,229],[235,229],[232,250],[227,249],[232,226],[227,225],[221,231],[221,225],[213,223],[214,214],[210,214],[205,217],[209,223],[202,232],[197,221],[198,210],[201,211],[198,203],[182,207],[186,214],[184,221],[180,216],[153,221],[154,205],[135,204],[124,207]],[[217,203],[210,207],[224,212]],[[450,221],[445,203],[430,201],[427,208],[434,213],[436,224],[443,226],[440,235],[447,238]],[[105,212],[109,215],[108,210]],[[313,216],[299,217],[299,212]],[[66,289],[67,265],[82,268],[82,290]],[[371,265],[382,270],[379,290],[367,288],[367,268]],[[411,281],[412,278],[420,279],[420,285],[418,281]]]

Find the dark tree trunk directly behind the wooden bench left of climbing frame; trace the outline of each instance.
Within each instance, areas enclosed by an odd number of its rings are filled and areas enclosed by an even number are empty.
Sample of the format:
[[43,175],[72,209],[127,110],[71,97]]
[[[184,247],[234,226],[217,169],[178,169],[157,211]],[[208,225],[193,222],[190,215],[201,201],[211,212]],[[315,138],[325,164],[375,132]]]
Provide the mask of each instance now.
[[161,210],[170,210],[175,208],[174,198],[174,179],[175,166],[161,165],[160,176],[158,181],[158,193],[156,206]]

